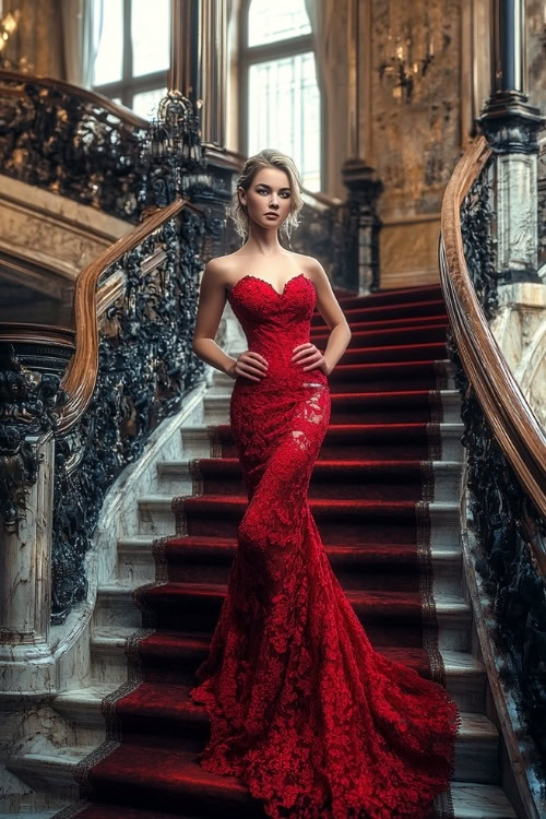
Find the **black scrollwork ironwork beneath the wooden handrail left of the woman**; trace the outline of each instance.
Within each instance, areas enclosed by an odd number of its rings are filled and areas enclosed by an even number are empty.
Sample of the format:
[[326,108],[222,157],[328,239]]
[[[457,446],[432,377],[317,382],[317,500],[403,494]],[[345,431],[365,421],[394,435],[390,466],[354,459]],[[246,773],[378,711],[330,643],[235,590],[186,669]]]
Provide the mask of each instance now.
[[106,281],[123,269],[126,289],[102,320],[92,401],[57,446],[56,624],[86,595],[84,558],[108,487],[203,377],[204,365],[191,348],[202,268],[197,248],[203,235],[202,221],[182,211],[179,224],[167,222],[103,276]]

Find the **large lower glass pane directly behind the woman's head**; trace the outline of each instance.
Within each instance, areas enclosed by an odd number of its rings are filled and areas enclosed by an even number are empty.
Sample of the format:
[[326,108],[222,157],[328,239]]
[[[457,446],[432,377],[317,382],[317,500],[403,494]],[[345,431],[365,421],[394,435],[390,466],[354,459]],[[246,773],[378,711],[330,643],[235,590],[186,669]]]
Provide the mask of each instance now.
[[301,183],[320,190],[320,93],[308,51],[250,66],[248,151],[274,147],[292,156]]

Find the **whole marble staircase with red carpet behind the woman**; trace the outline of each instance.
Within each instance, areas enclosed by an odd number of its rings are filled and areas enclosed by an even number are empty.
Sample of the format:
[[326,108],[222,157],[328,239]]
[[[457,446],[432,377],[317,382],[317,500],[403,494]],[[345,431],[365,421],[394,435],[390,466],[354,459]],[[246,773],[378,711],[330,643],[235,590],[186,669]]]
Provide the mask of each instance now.
[[[465,596],[458,503],[463,425],[440,287],[340,304],[353,336],[330,376],[331,425],[311,479],[312,513],[372,643],[432,676],[420,637],[423,567],[408,535],[426,521],[420,536],[429,538],[444,684],[463,717],[454,816],[513,818],[500,786],[499,735],[485,713],[486,674]],[[323,348],[327,337],[316,313],[311,341]],[[156,491],[136,501],[138,531],[117,544],[117,580],[98,590],[88,686],[52,702],[73,744],[9,762],[13,774],[59,805],[78,798],[75,767],[93,752],[85,768],[99,802],[79,812],[82,819],[264,816],[238,780],[199,767],[209,724],[188,697],[207,653],[247,503],[227,424],[233,383],[215,372],[203,423],[181,430],[183,460],[158,465]],[[105,717],[117,740],[96,750]]]

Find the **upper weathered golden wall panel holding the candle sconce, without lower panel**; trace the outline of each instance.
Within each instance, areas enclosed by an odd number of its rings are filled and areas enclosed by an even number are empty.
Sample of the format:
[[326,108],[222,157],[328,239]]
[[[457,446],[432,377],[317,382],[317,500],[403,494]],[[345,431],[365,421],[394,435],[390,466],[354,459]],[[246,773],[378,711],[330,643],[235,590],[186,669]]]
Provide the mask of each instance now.
[[438,212],[461,145],[460,0],[373,0],[370,71],[380,212]]

